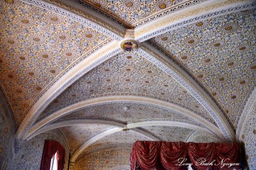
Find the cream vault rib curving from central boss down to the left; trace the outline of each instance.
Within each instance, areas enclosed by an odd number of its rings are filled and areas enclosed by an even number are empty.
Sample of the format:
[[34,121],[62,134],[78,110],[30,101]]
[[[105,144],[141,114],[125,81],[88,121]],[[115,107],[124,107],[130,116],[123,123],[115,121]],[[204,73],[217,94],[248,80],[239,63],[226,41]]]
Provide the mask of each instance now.
[[25,135],[29,131],[31,125],[42,111],[51,103],[58,95],[61,94],[69,85],[74,83],[91,69],[99,66],[102,62],[110,59],[113,55],[121,52],[122,49],[117,41],[112,41],[100,50],[90,54],[83,61],[79,62],[75,67],[68,70],[59,80],[55,81],[49,89],[42,94],[42,97],[30,108],[26,117],[19,126],[16,133],[18,139],[26,139]]

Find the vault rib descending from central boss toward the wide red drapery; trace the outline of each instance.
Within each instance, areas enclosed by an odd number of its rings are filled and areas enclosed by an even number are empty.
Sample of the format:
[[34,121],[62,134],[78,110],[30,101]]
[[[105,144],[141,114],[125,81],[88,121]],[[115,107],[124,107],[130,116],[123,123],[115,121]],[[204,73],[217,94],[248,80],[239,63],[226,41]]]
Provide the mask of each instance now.
[[214,103],[214,100],[205,92],[205,90],[196,83],[192,76],[184,71],[176,62],[168,59],[168,57],[159,52],[154,46],[148,43],[143,43],[138,53],[145,57],[147,60],[155,64],[161,70],[172,76],[182,87],[195,97],[195,99],[204,106],[205,110],[214,119],[221,132],[223,132],[225,138],[228,141],[235,140],[234,130],[228,122],[227,118],[220,110],[218,105]]

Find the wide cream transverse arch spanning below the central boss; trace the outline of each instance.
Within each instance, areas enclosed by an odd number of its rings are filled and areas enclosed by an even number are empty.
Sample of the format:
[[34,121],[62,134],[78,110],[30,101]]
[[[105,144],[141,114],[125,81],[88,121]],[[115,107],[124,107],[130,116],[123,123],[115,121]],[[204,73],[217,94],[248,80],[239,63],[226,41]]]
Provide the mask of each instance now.
[[168,103],[165,101],[160,101],[157,99],[151,99],[148,97],[135,97],[135,96],[109,96],[109,97],[97,97],[94,99],[88,99],[86,101],[81,101],[76,104],[72,104],[70,106],[67,106],[66,108],[63,108],[59,111],[56,111],[55,113],[52,113],[48,117],[44,118],[37,124],[33,125],[31,127],[31,130],[28,132],[26,138],[29,138],[31,134],[38,131],[40,128],[42,128],[44,125],[49,124],[50,122],[53,122],[57,118],[63,117],[64,115],[67,115],[69,113],[72,113],[77,110],[81,110],[82,108],[86,108],[87,106],[93,106],[95,104],[105,104],[105,103],[113,103],[113,102],[120,102],[120,101],[131,101],[134,103],[145,103],[145,104],[151,104],[152,106],[159,106],[161,108],[165,108],[167,110],[172,110],[175,113],[180,113],[182,115],[185,115],[186,117],[191,118],[192,120],[195,120],[200,125],[203,125],[205,128],[209,129],[210,131],[214,132],[217,136],[220,136],[220,138],[224,138],[223,134],[221,134],[220,129],[216,127],[215,125],[211,124],[211,122],[205,120],[204,118],[196,115],[192,111],[186,110],[184,108],[181,108],[180,106],[177,106],[172,103]]

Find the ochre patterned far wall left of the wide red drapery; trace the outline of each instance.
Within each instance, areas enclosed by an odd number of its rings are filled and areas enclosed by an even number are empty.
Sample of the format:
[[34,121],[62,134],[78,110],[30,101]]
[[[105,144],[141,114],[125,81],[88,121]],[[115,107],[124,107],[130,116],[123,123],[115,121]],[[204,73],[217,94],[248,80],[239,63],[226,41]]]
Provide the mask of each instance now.
[[79,157],[75,163],[76,170],[118,170],[130,168],[131,146],[109,146],[89,152]]

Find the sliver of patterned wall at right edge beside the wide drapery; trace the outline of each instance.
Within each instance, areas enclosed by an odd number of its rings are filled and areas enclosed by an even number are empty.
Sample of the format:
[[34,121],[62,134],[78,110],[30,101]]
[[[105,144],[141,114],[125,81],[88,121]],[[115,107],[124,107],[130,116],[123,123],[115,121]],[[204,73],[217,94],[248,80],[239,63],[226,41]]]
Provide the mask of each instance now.
[[250,169],[256,169],[256,104],[253,110],[248,113],[246,124],[242,132],[242,141],[245,146],[246,159]]

